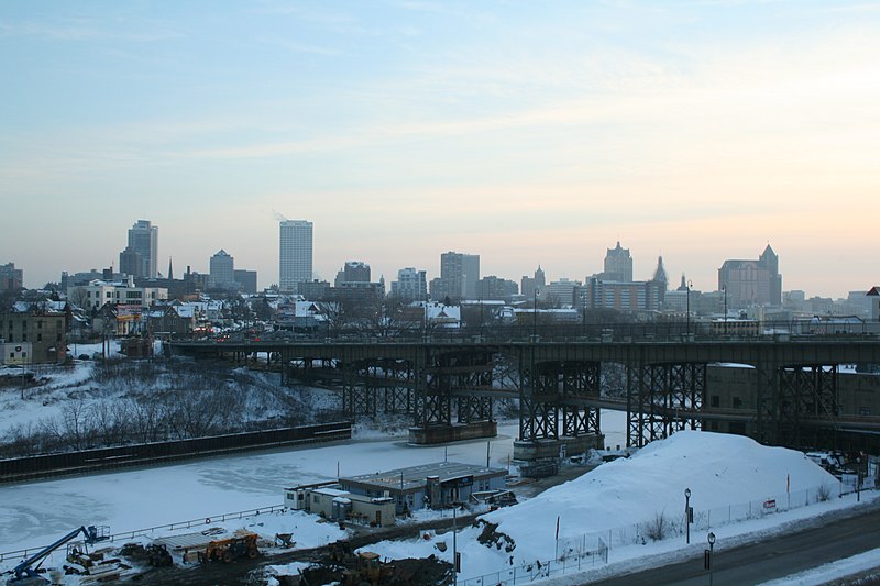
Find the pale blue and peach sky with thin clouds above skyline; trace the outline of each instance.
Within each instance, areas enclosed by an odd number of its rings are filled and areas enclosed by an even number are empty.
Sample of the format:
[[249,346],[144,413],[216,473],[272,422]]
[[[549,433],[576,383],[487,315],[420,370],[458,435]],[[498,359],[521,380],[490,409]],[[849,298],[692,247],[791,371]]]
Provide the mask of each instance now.
[[603,269],[715,290],[769,243],[783,289],[880,284],[880,2],[0,2],[0,264],[33,288],[119,266],[278,281]]

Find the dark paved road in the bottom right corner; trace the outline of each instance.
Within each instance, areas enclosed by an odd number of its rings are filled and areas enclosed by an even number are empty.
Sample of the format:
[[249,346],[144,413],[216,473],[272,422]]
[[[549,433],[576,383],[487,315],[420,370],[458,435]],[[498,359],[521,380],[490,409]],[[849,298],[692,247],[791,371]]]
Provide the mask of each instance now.
[[[880,545],[880,502],[847,518],[829,519],[789,534],[761,539],[730,549],[716,542],[713,556],[714,586],[760,584],[818,567]],[[708,544],[706,544],[708,548]],[[632,584],[706,586],[710,572],[703,568],[703,552],[686,562],[590,582],[602,586]]]

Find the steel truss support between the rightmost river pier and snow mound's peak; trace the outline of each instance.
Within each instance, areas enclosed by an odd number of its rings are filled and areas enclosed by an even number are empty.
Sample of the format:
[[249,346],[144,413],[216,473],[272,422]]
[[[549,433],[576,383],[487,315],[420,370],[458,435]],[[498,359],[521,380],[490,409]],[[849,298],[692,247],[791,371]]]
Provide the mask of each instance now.
[[649,364],[627,369],[627,436],[629,446],[702,429],[706,365]]

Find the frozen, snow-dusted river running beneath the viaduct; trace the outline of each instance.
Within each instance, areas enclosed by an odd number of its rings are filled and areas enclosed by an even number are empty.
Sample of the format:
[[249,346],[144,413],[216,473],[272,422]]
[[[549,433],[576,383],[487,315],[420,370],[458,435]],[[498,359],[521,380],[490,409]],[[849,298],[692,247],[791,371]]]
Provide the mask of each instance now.
[[[606,445],[626,443],[626,414],[603,411]],[[516,424],[488,441],[493,467],[507,467]],[[112,533],[204,519],[284,500],[285,487],[442,461],[486,463],[486,440],[411,446],[403,438],[245,453],[161,467],[0,486],[0,552],[45,545],[79,526]]]

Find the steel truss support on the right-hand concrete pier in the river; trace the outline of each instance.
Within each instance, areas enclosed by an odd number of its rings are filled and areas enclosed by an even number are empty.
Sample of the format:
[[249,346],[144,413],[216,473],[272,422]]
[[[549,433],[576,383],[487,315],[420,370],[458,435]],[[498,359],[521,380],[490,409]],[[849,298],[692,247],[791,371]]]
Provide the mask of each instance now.
[[519,439],[598,433],[598,409],[586,401],[600,397],[600,373],[601,363],[584,361],[541,362],[521,368]]

